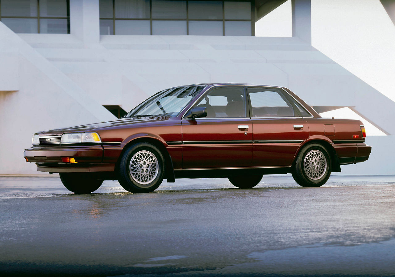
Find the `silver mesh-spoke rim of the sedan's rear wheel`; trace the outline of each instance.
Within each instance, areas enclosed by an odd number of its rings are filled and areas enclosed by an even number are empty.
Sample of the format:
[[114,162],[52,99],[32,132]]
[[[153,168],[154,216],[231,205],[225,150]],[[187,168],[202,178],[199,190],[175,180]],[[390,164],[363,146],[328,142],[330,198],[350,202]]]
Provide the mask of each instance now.
[[326,171],[326,158],[319,150],[311,150],[305,156],[303,169],[312,180],[318,180],[324,176]]

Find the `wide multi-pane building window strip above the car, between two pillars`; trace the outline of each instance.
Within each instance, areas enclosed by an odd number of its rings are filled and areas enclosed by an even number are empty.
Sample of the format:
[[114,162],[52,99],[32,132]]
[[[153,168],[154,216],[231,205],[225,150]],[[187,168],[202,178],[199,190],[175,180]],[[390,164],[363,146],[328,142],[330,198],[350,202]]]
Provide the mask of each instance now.
[[100,0],[101,35],[254,36],[251,0]]

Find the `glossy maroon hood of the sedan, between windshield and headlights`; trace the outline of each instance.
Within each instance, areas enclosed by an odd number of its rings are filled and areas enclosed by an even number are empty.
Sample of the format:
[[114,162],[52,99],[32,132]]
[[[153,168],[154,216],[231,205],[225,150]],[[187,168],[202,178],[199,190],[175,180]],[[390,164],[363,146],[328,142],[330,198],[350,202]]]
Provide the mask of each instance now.
[[98,122],[93,124],[78,125],[54,130],[47,130],[37,132],[36,134],[41,135],[61,135],[63,133],[78,133],[78,132],[95,132],[107,128],[119,128],[120,126],[133,125],[130,127],[137,127],[145,124],[152,124],[154,122],[160,122],[169,119],[169,117],[128,117],[120,118],[113,121]]

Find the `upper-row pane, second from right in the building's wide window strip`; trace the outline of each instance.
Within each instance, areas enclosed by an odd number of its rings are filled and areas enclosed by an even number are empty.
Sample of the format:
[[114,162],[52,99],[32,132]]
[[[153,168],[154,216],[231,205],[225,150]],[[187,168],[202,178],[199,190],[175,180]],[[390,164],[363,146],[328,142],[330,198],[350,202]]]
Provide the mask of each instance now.
[[189,1],[190,19],[222,19],[222,1]]

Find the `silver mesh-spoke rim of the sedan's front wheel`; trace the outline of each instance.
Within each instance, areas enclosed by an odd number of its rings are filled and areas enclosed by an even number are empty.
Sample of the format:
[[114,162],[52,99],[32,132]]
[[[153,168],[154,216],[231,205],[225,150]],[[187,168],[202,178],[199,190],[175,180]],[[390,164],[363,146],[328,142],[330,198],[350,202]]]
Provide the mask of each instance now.
[[158,175],[158,159],[150,151],[139,151],[130,160],[129,170],[140,187],[149,187],[149,183]]

